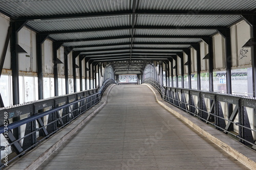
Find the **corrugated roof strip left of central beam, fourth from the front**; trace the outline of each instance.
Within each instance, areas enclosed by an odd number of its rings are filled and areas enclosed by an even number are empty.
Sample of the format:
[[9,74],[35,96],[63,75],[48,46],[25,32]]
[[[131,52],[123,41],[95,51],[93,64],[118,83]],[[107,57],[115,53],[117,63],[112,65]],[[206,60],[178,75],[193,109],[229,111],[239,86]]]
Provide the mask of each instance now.
[[65,42],[63,46],[80,46],[80,45],[99,45],[99,44],[113,44],[113,43],[127,43],[130,42],[131,38],[123,39],[105,39],[97,41],[80,41],[80,42]]

